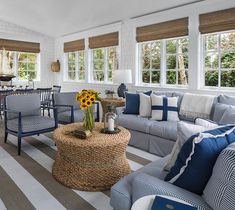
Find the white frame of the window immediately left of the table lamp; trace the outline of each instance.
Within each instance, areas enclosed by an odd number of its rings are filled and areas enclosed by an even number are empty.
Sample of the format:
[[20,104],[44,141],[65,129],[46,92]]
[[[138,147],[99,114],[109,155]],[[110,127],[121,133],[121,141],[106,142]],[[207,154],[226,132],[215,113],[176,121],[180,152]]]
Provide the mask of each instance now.
[[[94,48],[94,49],[89,49],[89,54],[90,54],[90,78],[89,81],[91,83],[98,83],[98,84],[113,84],[112,81],[108,80],[108,50],[109,48],[116,48],[116,53],[117,53],[117,62],[119,63],[119,46],[109,46],[109,47],[101,47],[101,48]],[[98,49],[104,49],[104,81],[98,81],[98,80],[94,80],[94,71],[99,71],[99,70],[94,70],[94,65],[93,65],[93,61],[94,61],[94,57],[93,57],[93,50],[98,50]],[[98,59],[97,59],[98,60]],[[112,71],[114,71],[115,69],[112,69]]]

